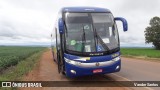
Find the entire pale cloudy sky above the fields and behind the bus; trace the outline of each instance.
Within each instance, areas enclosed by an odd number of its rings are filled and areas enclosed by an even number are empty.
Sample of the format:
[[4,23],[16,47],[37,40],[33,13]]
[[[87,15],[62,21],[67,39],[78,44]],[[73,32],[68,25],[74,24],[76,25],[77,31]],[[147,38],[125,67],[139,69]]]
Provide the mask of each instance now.
[[160,16],[160,0],[0,0],[0,45],[50,45],[58,11],[71,6],[107,8],[128,21],[127,32],[117,22],[121,46],[152,46],[144,30]]

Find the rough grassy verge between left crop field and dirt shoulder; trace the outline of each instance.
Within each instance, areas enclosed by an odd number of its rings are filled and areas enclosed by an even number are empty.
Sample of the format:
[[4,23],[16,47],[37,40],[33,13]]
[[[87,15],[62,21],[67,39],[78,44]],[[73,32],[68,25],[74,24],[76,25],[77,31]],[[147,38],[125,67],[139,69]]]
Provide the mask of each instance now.
[[0,75],[0,81],[21,80],[21,76],[27,74],[27,72],[32,70],[32,68],[36,65],[41,53],[42,52],[35,53],[25,60],[20,61],[16,66],[12,66],[4,71],[4,73]]

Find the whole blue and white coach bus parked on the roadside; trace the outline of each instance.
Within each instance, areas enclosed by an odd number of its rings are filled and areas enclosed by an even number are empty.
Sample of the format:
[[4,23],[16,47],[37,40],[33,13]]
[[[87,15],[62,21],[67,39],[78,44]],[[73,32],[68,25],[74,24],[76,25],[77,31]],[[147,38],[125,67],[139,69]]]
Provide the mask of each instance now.
[[121,69],[120,42],[110,10],[97,7],[65,7],[59,11],[51,34],[52,53],[58,72],[67,77],[118,72]]

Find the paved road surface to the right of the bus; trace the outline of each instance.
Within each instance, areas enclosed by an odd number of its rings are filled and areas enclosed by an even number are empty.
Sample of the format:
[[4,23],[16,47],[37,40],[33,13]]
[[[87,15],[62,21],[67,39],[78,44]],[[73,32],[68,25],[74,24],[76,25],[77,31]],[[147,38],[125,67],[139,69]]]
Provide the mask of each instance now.
[[121,71],[114,75],[127,81],[160,81],[160,62],[122,57]]

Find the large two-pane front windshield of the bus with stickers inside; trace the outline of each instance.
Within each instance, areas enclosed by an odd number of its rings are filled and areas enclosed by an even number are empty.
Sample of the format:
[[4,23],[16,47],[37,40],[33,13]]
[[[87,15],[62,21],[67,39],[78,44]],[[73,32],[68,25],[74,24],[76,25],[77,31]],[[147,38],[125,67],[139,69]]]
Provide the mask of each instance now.
[[104,52],[119,47],[118,31],[111,13],[65,13],[66,49]]

